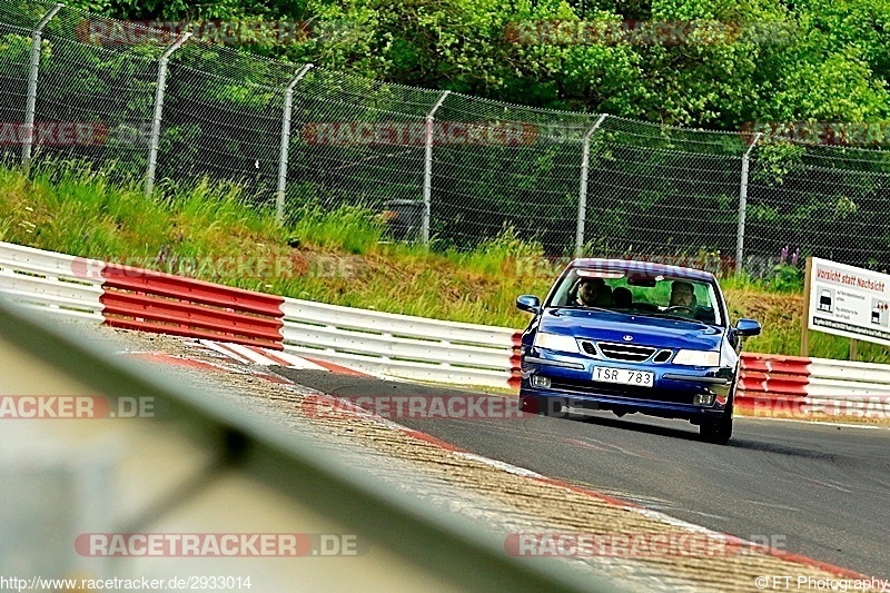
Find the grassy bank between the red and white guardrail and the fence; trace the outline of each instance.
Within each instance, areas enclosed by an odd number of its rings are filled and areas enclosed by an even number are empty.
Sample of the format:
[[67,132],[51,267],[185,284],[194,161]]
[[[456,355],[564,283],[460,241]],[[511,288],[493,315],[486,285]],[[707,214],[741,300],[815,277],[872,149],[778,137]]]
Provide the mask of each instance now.
[[[528,322],[516,296],[543,296],[560,271],[512,229],[473,251],[425,249],[380,243],[384,219],[360,205],[305,205],[279,227],[270,208],[246,205],[235,185],[167,182],[147,199],[139,182],[108,178],[72,164],[47,164],[30,179],[0,167],[0,240],[296,298],[514,328]],[[793,273],[721,284],[733,318],[763,325],[746,350],[799,354],[802,288]],[[849,348],[849,339],[810,334],[811,356],[848,358]],[[859,359],[890,363],[890,353],[860,343]]]

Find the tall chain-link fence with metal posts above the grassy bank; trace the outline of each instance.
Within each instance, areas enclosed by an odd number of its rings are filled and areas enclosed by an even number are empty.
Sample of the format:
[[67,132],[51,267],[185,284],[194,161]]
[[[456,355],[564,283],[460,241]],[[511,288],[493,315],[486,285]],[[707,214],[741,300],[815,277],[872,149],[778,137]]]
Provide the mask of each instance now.
[[363,205],[443,247],[890,267],[890,151],[382,83],[39,0],[0,0],[0,157],[228,181],[283,218]]

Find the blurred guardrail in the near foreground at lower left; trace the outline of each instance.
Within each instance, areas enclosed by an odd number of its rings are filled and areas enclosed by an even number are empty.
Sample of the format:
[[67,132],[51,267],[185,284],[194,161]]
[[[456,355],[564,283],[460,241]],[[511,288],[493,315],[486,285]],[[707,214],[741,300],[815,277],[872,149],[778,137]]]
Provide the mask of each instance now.
[[[53,255],[43,254],[27,265],[20,260],[22,271],[11,271],[8,247],[3,253],[4,401],[12,394],[95,394],[108,401],[126,395],[154,398],[165,409],[162,421],[0,423],[0,570],[7,583],[10,575],[27,577],[26,587],[39,577],[149,577],[164,583],[226,577],[238,579],[240,585],[219,589],[622,590],[603,577],[576,574],[554,559],[530,563],[511,557],[503,536],[482,533],[468,520],[357,471],[308,436],[100,349],[76,335],[78,324],[63,327],[52,323],[58,317],[46,316],[55,309],[72,319],[97,320],[101,307],[96,291],[79,288],[89,283],[72,281],[66,268],[72,260],[56,257],[59,265],[53,267],[48,265]],[[33,280],[13,284],[19,278],[11,276]],[[76,302],[59,299],[75,293],[80,295]],[[10,296],[29,308],[13,305]],[[210,554],[216,557],[146,557],[108,553],[108,546],[92,554],[82,542],[97,535],[107,540],[115,532],[181,536],[344,530],[369,537],[373,551],[337,559],[220,557],[219,550]]]

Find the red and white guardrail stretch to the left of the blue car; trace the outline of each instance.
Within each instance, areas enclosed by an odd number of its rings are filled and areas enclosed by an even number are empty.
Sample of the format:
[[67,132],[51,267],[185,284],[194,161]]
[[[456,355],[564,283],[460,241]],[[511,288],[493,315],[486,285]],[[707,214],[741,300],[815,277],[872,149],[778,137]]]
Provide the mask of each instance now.
[[508,328],[283,298],[2,243],[0,294],[113,327],[237,345],[227,346],[233,352],[287,350],[314,364],[434,383],[520,383],[520,333]]

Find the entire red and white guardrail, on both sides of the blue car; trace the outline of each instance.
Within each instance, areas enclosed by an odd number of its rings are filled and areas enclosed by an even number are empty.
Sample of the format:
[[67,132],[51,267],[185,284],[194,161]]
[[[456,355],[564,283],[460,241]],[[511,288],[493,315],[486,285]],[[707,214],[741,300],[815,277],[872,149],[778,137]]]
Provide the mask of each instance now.
[[[78,320],[286,350],[374,375],[520,384],[522,334],[505,327],[298,300],[7,243],[0,295]],[[744,353],[735,401],[755,414],[890,417],[890,365]]]

